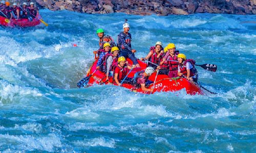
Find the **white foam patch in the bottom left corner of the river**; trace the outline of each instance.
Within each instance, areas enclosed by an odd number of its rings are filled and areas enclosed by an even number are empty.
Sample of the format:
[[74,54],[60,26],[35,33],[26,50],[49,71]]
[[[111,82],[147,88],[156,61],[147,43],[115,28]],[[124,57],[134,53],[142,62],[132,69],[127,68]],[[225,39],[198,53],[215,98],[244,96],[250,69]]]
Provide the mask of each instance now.
[[61,147],[61,141],[58,136],[53,133],[44,137],[33,137],[30,135],[9,135],[0,134],[0,139],[6,142],[8,145],[12,144],[12,147],[19,150],[33,151],[33,150],[45,150],[54,152],[56,147]]

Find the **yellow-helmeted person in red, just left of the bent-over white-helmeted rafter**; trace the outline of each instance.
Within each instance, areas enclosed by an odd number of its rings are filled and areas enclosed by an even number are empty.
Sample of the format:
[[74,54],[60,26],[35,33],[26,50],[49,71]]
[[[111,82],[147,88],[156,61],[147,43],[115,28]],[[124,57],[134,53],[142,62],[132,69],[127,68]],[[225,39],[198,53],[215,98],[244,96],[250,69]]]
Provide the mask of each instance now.
[[[127,72],[128,72],[128,69],[132,69],[133,67],[135,67],[135,65],[133,66],[130,66],[130,65],[127,65],[125,63],[126,59],[121,56],[118,58],[118,64],[114,65],[114,81],[115,83],[120,86],[122,82],[122,80],[125,78]],[[125,81],[123,81],[123,83],[131,83],[131,78],[126,78]]]

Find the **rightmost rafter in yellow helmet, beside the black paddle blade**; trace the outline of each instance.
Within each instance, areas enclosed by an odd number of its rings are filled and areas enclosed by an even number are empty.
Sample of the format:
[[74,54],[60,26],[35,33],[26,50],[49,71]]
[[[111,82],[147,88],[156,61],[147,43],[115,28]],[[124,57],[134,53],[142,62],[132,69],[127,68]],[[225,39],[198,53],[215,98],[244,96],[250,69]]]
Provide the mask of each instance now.
[[186,60],[186,56],[184,54],[179,54],[177,57],[179,61],[178,75],[184,75],[187,80],[197,83],[198,75],[197,69],[195,68],[196,61],[192,59]]

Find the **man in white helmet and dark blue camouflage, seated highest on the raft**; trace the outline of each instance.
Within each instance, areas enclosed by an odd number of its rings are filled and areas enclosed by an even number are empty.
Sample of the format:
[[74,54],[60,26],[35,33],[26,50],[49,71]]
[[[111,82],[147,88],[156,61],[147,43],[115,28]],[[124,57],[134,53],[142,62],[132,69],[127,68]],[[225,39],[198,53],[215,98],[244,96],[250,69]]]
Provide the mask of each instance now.
[[123,23],[123,32],[121,32],[117,38],[117,45],[121,49],[120,56],[129,58],[130,60],[133,61],[133,64],[136,65],[136,67],[140,67],[137,59],[134,56],[134,53],[136,53],[136,50],[132,49],[132,45],[131,45],[132,35],[129,33],[129,31],[130,31],[130,24],[127,22]]

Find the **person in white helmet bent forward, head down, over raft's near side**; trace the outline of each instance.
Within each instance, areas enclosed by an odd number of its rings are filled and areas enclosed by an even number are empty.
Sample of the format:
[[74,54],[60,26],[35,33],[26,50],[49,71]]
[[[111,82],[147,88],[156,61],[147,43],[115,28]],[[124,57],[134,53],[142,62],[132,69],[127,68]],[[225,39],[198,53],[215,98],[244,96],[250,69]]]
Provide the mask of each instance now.
[[134,74],[133,83],[136,88],[141,88],[142,91],[153,92],[154,89],[147,89],[146,82],[150,75],[155,72],[155,69],[151,66],[148,66],[142,71],[138,71]]

